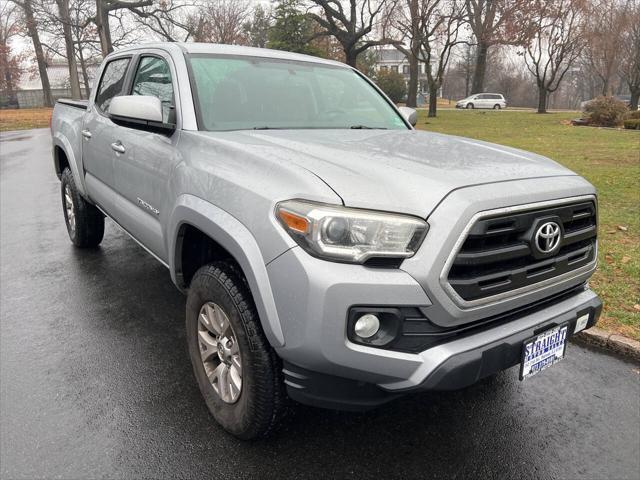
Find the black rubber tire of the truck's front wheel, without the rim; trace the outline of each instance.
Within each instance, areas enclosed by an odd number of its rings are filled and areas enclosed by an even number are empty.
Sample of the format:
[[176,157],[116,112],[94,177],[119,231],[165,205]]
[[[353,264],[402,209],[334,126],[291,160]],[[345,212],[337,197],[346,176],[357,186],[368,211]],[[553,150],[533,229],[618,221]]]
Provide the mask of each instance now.
[[[214,390],[200,353],[199,315],[208,302],[222,308],[239,347],[242,387],[233,403],[222,400]],[[227,432],[242,440],[268,435],[284,413],[282,365],[265,338],[242,274],[224,262],[200,268],[189,288],[186,322],[193,371],[213,417]]]

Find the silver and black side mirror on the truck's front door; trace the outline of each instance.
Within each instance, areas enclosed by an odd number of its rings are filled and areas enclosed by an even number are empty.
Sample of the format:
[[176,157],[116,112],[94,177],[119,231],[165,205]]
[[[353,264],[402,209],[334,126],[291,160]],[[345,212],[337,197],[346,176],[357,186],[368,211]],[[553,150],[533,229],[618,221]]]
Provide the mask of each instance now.
[[122,95],[109,104],[109,118],[116,124],[140,130],[169,133],[175,125],[162,122],[162,102],[150,95]]

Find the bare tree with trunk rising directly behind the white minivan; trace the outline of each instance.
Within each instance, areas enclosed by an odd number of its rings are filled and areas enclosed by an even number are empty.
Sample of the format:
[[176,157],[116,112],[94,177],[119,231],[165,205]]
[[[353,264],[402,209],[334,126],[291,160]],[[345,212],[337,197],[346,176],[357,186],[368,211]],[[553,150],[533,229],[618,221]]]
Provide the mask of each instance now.
[[484,90],[487,55],[493,45],[520,45],[526,38],[528,0],[466,0],[467,22],[476,39],[471,93]]

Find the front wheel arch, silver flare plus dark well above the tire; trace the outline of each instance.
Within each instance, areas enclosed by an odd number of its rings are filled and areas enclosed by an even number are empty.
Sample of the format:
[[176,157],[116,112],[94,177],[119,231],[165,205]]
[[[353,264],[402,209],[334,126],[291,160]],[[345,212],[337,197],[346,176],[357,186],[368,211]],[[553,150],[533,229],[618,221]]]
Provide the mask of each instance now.
[[[232,261],[246,279],[269,343],[284,346],[264,258],[253,234],[238,219],[201,198],[181,195],[171,213],[168,232],[171,277],[178,288],[188,290],[200,266],[215,260]],[[190,243],[193,240],[198,245]],[[198,265],[200,262],[204,263]]]

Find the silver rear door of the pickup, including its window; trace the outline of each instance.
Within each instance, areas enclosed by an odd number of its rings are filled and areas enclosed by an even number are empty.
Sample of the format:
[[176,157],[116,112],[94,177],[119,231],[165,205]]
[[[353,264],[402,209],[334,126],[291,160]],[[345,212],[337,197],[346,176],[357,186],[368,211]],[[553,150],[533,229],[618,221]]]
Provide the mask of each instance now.
[[89,102],[82,125],[82,163],[91,199],[109,215],[115,213],[114,161],[111,144],[118,127],[108,117],[111,100],[122,95],[131,56],[110,60],[102,70],[93,102]]

